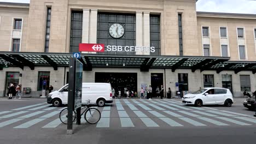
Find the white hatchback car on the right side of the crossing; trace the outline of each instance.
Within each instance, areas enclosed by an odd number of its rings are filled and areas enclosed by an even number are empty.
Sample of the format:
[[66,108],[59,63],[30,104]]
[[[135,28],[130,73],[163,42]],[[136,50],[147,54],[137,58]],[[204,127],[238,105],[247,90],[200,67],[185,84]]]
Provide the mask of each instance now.
[[189,93],[183,96],[182,103],[188,105],[225,105],[230,107],[233,103],[233,95],[227,88],[201,88],[194,93]]

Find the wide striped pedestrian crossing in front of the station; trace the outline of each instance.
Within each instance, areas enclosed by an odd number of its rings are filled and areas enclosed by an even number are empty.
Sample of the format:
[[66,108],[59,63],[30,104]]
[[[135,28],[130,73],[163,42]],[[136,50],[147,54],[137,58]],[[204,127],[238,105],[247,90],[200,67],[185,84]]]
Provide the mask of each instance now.
[[[59,119],[60,111],[65,108],[42,103],[0,111],[0,128],[66,127]],[[115,99],[113,104],[97,109],[101,111],[101,119],[95,128],[99,129],[256,126],[256,118],[250,115],[212,107],[186,106],[172,99]],[[86,123],[84,116],[81,122]]]

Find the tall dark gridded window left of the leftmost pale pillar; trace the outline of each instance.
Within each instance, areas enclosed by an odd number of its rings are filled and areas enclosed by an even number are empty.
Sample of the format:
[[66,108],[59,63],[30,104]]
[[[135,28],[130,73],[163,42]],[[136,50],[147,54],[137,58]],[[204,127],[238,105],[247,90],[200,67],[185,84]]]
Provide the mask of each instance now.
[[83,11],[71,12],[71,31],[69,52],[78,52],[82,43]]

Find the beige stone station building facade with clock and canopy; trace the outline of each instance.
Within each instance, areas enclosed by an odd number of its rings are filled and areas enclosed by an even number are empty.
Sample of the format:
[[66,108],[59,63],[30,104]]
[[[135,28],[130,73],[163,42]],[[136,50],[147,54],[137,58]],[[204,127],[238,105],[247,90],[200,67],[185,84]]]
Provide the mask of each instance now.
[[110,82],[122,93],[163,85],[172,95],[225,87],[241,97],[256,90],[255,36],[256,15],[197,12],[195,0],[1,2],[0,95],[10,82],[33,97],[45,80],[61,88],[68,58],[89,43],[106,47],[83,52],[83,82]]

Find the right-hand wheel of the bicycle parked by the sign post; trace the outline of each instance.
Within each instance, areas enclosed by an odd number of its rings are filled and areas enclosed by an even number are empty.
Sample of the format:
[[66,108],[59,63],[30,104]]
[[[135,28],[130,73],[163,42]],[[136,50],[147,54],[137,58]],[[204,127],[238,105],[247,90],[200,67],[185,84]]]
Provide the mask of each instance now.
[[101,112],[95,108],[89,108],[84,114],[84,119],[90,124],[95,124],[101,119]]

